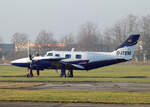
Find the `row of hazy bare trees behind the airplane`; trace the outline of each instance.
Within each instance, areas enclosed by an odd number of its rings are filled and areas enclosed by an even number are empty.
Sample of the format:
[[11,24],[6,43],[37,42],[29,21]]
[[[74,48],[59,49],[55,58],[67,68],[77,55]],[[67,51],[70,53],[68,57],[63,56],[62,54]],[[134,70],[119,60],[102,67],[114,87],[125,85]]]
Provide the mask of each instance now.
[[[150,16],[128,15],[118,20],[109,28],[101,30],[99,26],[92,22],[87,22],[80,26],[79,31],[74,35],[68,33],[57,40],[52,32],[42,30],[35,39],[36,44],[67,44],[62,50],[76,48],[80,51],[113,51],[130,34],[140,34],[140,40],[135,53],[135,60],[150,60]],[[0,39],[1,40],[1,39]],[[13,44],[28,43],[29,35],[26,33],[15,33],[12,36]],[[105,48],[105,49],[102,49]],[[51,47],[41,46],[34,49],[34,52],[44,53],[52,50]]]

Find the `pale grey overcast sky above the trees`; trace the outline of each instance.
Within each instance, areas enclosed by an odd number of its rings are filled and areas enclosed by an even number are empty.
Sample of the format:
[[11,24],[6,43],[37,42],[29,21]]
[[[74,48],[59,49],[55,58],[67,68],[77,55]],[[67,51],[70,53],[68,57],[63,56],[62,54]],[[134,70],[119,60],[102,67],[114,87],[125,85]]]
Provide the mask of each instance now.
[[21,32],[34,40],[46,30],[59,38],[87,21],[103,29],[129,14],[150,14],[150,0],[0,0],[0,37],[8,43]]

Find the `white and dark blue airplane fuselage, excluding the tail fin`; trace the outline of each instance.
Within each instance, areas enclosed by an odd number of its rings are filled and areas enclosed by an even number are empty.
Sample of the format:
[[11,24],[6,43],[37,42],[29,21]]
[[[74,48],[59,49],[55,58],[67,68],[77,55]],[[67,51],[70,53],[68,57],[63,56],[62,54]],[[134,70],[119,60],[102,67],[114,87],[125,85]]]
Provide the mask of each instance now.
[[[71,52],[71,51],[50,51],[43,56],[33,58],[33,69],[61,69],[61,66],[55,65],[49,59],[64,58],[61,60],[64,64],[74,64],[75,70],[90,70],[103,67],[127,60],[117,58],[112,52]],[[22,58],[12,62],[12,65],[30,68],[30,59]],[[76,65],[77,64],[77,65]],[[67,67],[70,69],[70,67]]]

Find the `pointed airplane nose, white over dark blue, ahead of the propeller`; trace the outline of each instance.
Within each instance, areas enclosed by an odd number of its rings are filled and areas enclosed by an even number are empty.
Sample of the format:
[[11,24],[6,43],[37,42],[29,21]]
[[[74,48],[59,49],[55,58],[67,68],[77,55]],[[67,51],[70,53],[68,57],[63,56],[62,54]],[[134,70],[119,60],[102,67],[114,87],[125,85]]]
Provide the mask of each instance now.
[[29,67],[30,60],[29,58],[21,58],[14,61],[11,61],[11,65],[19,67]]

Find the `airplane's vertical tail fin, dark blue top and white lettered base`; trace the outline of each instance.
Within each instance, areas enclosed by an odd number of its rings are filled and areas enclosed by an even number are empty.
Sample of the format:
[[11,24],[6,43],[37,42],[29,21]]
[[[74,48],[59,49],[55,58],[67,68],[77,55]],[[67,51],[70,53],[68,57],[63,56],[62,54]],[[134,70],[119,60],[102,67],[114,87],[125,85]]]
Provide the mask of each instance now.
[[117,58],[131,60],[139,37],[140,34],[130,35],[129,38],[113,52],[113,54]]

